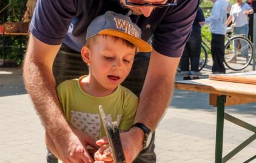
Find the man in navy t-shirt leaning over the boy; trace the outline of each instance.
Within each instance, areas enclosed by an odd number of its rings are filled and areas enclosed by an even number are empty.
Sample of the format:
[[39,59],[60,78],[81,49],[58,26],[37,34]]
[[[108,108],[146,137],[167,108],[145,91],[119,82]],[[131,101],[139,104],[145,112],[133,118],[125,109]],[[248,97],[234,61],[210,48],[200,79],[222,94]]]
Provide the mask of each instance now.
[[[67,123],[56,95],[56,82],[84,74],[83,66],[79,65],[83,62],[79,62],[78,56],[87,27],[107,10],[128,14],[141,28],[143,40],[150,42],[154,34],[150,61],[149,54],[137,54],[132,71],[123,83],[140,95],[140,102],[134,125],[129,132],[121,134],[121,141],[127,162],[132,162],[142,149],[144,154],[135,162],[155,162],[153,139],[149,144],[147,135],[150,130],[155,131],[169,104],[176,68],[192,28],[198,1],[179,0],[174,4],[167,0],[38,1],[30,25],[32,34],[24,61],[24,82],[64,162],[92,162],[86,145],[95,145],[95,142]],[[119,23],[129,30],[125,22]]]

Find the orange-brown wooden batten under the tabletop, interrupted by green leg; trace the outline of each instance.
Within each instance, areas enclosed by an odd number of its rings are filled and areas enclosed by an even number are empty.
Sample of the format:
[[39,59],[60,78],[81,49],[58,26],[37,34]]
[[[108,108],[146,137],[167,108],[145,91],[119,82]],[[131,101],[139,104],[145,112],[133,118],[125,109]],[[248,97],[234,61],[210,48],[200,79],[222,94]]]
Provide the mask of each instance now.
[[[209,97],[209,104],[211,106],[217,107],[217,94],[210,94]],[[246,103],[255,103],[256,99],[255,98],[241,98],[237,96],[231,96],[227,95],[226,97],[226,103],[225,106],[233,106],[237,104],[246,104]]]

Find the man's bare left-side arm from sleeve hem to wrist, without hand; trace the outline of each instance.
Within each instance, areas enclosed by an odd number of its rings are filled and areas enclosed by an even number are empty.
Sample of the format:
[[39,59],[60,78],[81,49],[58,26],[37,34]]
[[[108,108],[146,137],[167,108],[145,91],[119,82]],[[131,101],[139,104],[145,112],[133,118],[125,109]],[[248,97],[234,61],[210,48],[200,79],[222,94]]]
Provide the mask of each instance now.
[[52,134],[64,132],[56,129],[68,129],[67,121],[61,112],[52,73],[53,60],[59,47],[60,45],[47,45],[31,34],[23,68],[25,88],[45,129]]

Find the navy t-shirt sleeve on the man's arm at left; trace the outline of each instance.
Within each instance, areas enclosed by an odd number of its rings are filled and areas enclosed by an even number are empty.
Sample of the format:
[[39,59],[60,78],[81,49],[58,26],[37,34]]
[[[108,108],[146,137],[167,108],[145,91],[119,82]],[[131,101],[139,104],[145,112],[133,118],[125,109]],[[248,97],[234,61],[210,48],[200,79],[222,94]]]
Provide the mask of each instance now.
[[38,0],[30,32],[50,45],[60,45],[76,14],[76,0]]

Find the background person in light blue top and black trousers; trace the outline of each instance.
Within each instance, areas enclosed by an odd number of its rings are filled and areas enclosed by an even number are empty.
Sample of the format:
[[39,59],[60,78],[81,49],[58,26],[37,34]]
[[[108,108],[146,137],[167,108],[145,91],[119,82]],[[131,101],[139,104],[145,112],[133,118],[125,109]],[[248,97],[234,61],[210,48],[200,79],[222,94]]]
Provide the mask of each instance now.
[[212,53],[212,73],[224,74],[224,39],[226,34],[227,7],[226,0],[211,0],[214,3],[212,15],[206,19],[205,24],[210,24],[212,33],[211,53]]

